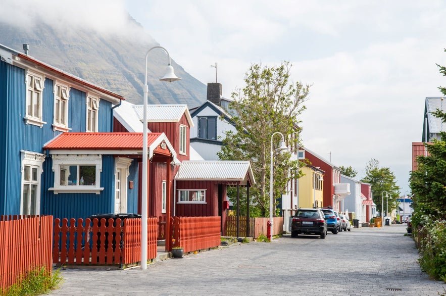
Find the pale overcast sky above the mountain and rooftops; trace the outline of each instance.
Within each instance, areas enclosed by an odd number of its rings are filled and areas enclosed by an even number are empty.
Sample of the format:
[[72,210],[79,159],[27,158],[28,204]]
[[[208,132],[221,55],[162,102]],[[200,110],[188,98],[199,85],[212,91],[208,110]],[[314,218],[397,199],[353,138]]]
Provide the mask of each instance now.
[[357,179],[374,158],[403,194],[409,190],[425,97],[446,85],[435,65],[446,65],[446,2],[4,0],[0,20],[32,28],[30,16],[41,12],[58,26],[129,34],[125,10],[203,83],[215,82],[217,63],[226,97],[243,87],[252,63],[290,61],[292,79],[313,84],[301,118],[304,145],[352,166]]

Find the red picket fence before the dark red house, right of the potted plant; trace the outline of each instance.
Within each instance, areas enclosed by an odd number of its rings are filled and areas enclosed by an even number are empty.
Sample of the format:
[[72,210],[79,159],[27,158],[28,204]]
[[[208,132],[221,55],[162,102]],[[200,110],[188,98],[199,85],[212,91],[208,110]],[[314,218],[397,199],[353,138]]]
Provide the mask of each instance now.
[[220,217],[173,217],[173,246],[185,253],[220,245]]

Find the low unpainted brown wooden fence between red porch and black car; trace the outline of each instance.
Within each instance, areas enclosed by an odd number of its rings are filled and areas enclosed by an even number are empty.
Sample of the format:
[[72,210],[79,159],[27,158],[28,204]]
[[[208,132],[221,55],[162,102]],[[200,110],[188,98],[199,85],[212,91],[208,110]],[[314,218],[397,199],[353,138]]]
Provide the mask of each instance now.
[[[246,217],[239,217],[239,235],[258,238],[260,234],[267,235],[269,218],[250,218],[250,229],[246,234]],[[283,232],[283,217],[273,217],[272,235],[279,235]],[[226,233],[224,236],[237,236],[237,217],[228,216],[226,218]]]

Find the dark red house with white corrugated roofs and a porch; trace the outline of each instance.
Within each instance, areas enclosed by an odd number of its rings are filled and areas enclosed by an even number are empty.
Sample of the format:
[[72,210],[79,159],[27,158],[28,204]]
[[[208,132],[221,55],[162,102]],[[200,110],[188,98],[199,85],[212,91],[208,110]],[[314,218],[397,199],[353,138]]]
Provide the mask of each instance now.
[[[115,132],[142,131],[142,106],[124,103],[115,109]],[[166,162],[150,162],[148,173],[148,215],[166,221],[166,195],[173,196],[171,216],[226,217],[227,185],[250,186],[254,176],[249,162],[190,161],[194,151],[190,147],[192,119],[186,105],[148,105],[148,129],[163,132],[176,152],[179,163],[171,163],[171,179],[166,180]],[[192,159],[195,160],[196,158]],[[139,166],[142,175],[142,164]],[[174,180],[175,177],[175,180]],[[171,182],[170,194],[166,184]],[[142,182],[138,182],[141,184]],[[140,185],[139,185],[140,186]],[[138,189],[139,196],[141,188]],[[140,198],[139,198],[140,201]],[[140,205],[140,203],[139,203]],[[140,206],[138,213],[140,213]]]

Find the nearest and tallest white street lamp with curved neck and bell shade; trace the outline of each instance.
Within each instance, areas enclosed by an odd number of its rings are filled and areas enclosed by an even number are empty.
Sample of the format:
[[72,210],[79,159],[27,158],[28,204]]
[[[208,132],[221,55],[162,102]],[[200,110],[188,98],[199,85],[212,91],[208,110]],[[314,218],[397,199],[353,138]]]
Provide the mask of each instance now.
[[[147,57],[148,53],[150,53],[155,48],[161,48],[166,52],[169,63],[166,68],[166,74],[161,78],[161,81],[172,82],[176,80],[180,80],[173,73],[173,67],[170,65],[170,55],[167,52],[166,48],[162,46],[154,46],[150,48],[145,54],[145,75],[144,75],[144,97],[143,97],[143,127],[142,127],[142,196],[141,196],[141,269],[147,269],[147,167],[148,167],[148,147],[147,147]],[[167,165],[170,165],[169,163]],[[166,216],[169,218],[170,213],[166,213]],[[169,223],[169,219],[167,219],[167,224]],[[166,225],[167,225],[166,224]],[[168,237],[166,237],[168,239]]]

